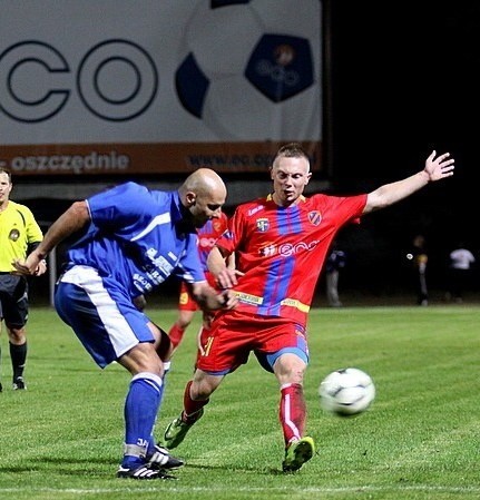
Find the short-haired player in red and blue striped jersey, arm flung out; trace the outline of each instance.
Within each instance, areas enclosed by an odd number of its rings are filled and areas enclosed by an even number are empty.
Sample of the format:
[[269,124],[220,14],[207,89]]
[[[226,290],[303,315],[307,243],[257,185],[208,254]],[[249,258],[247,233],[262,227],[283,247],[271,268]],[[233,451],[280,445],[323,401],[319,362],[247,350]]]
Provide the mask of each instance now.
[[[167,427],[165,444],[182,443],[225,375],[246,363],[253,352],[280,385],[283,471],[296,471],[308,461],[315,444],[304,434],[306,323],[329,248],[349,222],[448,178],[453,169],[448,153],[432,151],[420,171],[369,194],[306,197],[303,192],[312,176],[306,153],[296,143],[280,148],[271,168],[273,193],[239,205],[228,232],[208,256],[210,272],[219,276],[223,287],[236,292],[239,302],[235,310],[219,312],[203,336],[194,378],[185,388],[184,410]],[[225,258],[233,252],[235,273],[225,269]]]

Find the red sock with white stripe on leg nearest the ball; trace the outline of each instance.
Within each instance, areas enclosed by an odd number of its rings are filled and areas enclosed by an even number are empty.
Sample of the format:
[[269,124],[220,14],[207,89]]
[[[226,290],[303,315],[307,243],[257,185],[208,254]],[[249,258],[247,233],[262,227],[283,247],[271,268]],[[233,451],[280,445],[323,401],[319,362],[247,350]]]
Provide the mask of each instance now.
[[292,440],[297,440],[303,437],[303,432],[305,431],[306,404],[301,384],[287,384],[282,388],[278,418],[285,445]]

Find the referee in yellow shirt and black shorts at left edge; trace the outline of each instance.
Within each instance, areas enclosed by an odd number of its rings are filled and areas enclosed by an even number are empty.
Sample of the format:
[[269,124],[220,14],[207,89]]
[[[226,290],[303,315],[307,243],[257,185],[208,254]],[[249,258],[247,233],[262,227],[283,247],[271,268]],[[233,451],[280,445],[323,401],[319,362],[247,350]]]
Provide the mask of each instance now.
[[[12,187],[11,173],[0,167],[0,327],[4,320],[13,371],[12,388],[25,390],[28,282],[25,276],[13,274],[12,262],[16,258],[25,258],[43,239],[43,235],[31,210],[10,199]],[[42,261],[36,275],[40,276],[46,271],[47,263]]]

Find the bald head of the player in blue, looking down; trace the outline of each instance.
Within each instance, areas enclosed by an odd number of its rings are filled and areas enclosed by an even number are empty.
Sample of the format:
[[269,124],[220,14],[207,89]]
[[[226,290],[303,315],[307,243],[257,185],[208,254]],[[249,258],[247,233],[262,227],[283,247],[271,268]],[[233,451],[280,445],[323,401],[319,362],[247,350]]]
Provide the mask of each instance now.
[[209,168],[198,168],[178,188],[182,205],[195,227],[203,227],[207,220],[219,217],[225,204],[227,188],[222,177]]

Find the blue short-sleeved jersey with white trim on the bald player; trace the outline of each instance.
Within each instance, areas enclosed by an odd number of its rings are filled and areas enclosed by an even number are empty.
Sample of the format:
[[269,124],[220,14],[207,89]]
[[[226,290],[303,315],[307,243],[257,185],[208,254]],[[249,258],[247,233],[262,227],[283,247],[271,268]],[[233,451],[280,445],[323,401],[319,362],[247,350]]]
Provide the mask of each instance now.
[[90,266],[130,297],[168,276],[205,281],[194,226],[182,222],[178,192],[126,183],[87,199],[91,224],[68,252],[68,267]]

